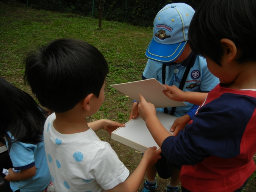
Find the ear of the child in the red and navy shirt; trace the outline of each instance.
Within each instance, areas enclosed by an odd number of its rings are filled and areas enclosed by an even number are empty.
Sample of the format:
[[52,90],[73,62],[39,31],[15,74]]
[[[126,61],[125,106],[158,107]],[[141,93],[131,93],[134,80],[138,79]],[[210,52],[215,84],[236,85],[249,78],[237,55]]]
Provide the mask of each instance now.
[[233,41],[227,38],[221,39],[221,45],[224,50],[223,59],[225,59],[229,63],[236,57],[236,45]]

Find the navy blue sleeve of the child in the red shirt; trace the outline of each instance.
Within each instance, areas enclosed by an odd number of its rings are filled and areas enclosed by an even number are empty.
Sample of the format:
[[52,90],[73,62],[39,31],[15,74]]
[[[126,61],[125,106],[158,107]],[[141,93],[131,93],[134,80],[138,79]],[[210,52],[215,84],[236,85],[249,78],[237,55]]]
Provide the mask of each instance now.
[[195,165],[211,155],[236,157],[255,108],[253,97],[224,93],[201,107],[192,124],[186,125],[177,137],[167,137],[162,153],[177,165]]

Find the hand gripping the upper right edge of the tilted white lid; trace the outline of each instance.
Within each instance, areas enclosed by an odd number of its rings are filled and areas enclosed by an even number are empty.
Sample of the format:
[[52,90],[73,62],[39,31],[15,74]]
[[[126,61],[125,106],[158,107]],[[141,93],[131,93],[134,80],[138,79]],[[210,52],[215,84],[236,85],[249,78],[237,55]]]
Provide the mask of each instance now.
[[174,101],[186,101],[185,99],[185,92],[183,92],[182,90],[180,90],[178,87],[176,87],[175,85],[169,86],[164,84],[163,86],[166,87],[167,90],[163,90],[163,93],[168,96],[170,99],[174,100]]

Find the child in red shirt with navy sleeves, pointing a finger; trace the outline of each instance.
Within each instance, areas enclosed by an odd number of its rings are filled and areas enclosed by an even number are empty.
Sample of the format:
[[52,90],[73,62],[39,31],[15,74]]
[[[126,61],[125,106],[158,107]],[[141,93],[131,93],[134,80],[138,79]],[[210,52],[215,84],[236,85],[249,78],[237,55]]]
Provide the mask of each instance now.
[[151,135],[169,162],[182,165],[182,192],[241,192],[256,169],[255,9],[252,0],[205,0],[198,6],[189,43],[221,83],[177,137],[140,95],[138,110]]

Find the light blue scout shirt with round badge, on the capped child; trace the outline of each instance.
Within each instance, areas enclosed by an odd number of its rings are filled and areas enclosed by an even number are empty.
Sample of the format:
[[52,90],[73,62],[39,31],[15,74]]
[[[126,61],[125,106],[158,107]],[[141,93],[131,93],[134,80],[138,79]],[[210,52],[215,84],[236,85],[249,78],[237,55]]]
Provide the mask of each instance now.
[[[193,54],[193,53],[192,53]],[[186,61],[186,60],[185,60]],[[183,63],[185,62],[183,61]],[[143,72],[143,79],[155,78],[157,81],[163,84],[162,77],[162,66],[163,63],[153,61],[148,59],[147,65]],[[165,84],[175,85],[176,87],[180,86],[180,81],[183,77],[183,74],[186,70],[186,67],[181,64],[168,65],[166,64],[166,80]],[[192,92],[209,92],[219,83],[219,79],[212,75],[207,68],[206,60],[197,55],[195,64],[191,67],[189,74],[186,78],[186,82],[183,87],[183,91],[192,91]],[[193,104],[185,102],[186,106],[177,107],[174,113],[174,116],[180,117],[189,112],[193,108]],[[157,111],[164,112],[163,108],[157,108]],[[172,108],[168,108],[168,113],[170,113]],[[188,113],[190,117],[191,113]]]

